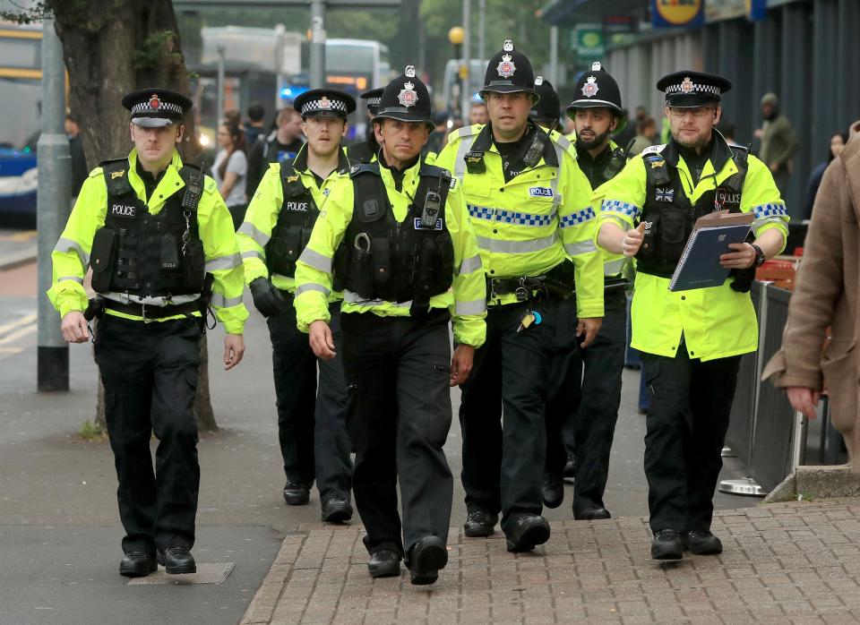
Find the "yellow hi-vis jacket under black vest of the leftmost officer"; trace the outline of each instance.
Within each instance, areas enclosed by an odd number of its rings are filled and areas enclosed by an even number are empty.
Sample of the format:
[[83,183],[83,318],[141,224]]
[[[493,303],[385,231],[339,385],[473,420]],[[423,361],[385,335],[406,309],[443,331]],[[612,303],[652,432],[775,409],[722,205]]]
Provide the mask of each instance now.
[[[157,215],[172,195],[185,193],[185,183],[179,176],[181,168],[182,160],[174,150],[173,159],[147,204],[151,214]],[[132,150],[128,155],[127,176],[137,197],[146,201],[146,189],[137,174],[137,150]],[[48,289],[47,296],[61,318],[66,312],[82,312],[87,307],[83,278],[90,264],[92,238],[96,230],[105,225],[106,214],[107,186],[101,167],[96,167],[84,181],[63,235],[51,253],[54,282]],[[209,176],[206,176],[203,183],[203,193],[197,207],[197,223],[206,256],[206,271],[215,278],[212,284],[212,309],[218,320],[224,324],[225,331],[229,334],[242,334],[245,319],[248,318],[248,311],[245,304],[242,304],[242,292],[245,289],[242,260],[236,246],[233,220],[218,193],[215,181]],[[112,311],[109,296],[105,305],[107,314],[142,321],[142,317]],[[181,319],[184,316],[176,315],[158,321]]]

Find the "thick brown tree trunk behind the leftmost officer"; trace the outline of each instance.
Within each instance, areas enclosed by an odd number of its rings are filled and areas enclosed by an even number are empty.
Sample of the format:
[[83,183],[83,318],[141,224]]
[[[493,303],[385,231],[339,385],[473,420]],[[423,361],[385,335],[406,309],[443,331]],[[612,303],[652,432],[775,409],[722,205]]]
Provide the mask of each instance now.
[[[129,113],[121,104],[129,91],[162,87],[189,93],[188,71],[170,0],[47,0],[69,73],[69,107],[81,126],[88,166],[121,158],[132,148]],[[185,122],[184,159],[196,160],[200,146],[194,119]],[[216,430],[209,395],[206,338],[194,411],[202,429]],[[99,397],[101,397],[99,380]],[[104,424],[104,401],[96,422]]]

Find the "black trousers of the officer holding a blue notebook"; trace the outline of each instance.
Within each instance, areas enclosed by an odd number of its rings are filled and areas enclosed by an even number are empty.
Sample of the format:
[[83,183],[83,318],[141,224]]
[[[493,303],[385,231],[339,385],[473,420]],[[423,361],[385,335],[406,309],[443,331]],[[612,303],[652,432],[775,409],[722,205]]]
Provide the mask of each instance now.
[[651,530],[710,529],[740,356],[702,363],[642,352],[649,408],[645,475]]

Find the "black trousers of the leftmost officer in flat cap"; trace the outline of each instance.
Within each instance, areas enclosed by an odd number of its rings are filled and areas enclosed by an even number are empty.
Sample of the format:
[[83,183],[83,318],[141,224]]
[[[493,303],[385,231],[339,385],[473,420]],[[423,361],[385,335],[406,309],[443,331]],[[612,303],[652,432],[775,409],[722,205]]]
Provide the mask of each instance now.
[[[197,321],[99,321],[96,363],[119,487],[125,552],[192,547],[200,465],[193,415]],[[150,436],[159,440],[152,471]]]

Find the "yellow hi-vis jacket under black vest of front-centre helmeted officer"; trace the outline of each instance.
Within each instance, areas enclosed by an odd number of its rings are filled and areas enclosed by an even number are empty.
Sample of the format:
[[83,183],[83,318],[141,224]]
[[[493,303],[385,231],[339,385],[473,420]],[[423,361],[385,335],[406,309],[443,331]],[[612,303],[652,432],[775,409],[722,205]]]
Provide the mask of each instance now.
[[[403,172],[400,189],[391,170],[380,166],[391,211],[399,222],[407,217],[409,204],[416,196],[422,160]],[[298,329],[304,332],[317,320],[329,321],[327,298],[331,295],[331,264],[344,233],[352,220],[355,201],[353,184],[338,185],[330,193],[325,209],[316,220],[311,240],[296,267],[296,317]],[[445,201],[445,227],[454,247],[452,289],[430,298],[431,308],[449,308],[452,312],[454,338],[458,343],[481,347],[486,338],[486,286],[481,270],[481,256],[463,203],[460,184],[454,183]],[[397,304],[383,300],[364,300],[349,291],[343,293],[342,312],[373,312],[381,317],[409,316],[411,303]]]

